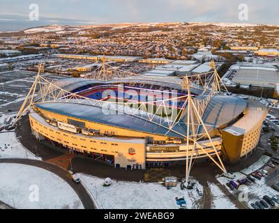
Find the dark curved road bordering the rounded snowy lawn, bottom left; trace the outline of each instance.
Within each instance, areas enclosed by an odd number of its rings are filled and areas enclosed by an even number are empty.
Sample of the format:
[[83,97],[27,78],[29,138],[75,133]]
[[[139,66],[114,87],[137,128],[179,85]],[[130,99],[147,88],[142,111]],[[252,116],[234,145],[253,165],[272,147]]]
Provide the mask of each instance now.
[[40,160],[27,160],[27,159],[0,159],[0,163],[17,163],[17,164],[27,164],[33,167],[40,167],[47,171],[51,171],[53,174],[56,174],[63,180],[65,180],[70,187],[76,192],[77,196],[82,201],[82,204],[85,209],[95,209],[96,207],[91,200],[90,195],[86,192],[82,184],[77,184],[73,182],[73,180],[68,176],[68,171],[55,166],[54,164],[50,164],[48,162],[43,162]]

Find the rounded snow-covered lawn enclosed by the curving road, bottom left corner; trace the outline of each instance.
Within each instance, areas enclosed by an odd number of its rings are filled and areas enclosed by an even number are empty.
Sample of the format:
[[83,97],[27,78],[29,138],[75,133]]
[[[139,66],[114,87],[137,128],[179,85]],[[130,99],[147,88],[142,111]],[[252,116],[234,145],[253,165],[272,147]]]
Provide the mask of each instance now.
[[0,172],[0,199],[9,206],[28,209],[84,208],[68,183],[50,171],[24,164],[0,163]]

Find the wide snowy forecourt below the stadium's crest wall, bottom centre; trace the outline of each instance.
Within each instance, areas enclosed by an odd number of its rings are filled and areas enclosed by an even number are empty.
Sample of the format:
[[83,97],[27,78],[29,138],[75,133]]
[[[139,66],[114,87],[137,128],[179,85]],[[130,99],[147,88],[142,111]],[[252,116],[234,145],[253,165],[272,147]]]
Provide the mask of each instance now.
[[[104,187],[103,178],[86,174],[77,174],[77,176],[88,187],[101,209],[178,208],[176,197],[184,197],[187,208],[200,208],[198,203],[202,202],[202,197],[199,197],[195,189],[181,190],[180,185],[167,190],[160,183],[116,182],[116,180],[112,180],[112,185]],[[199,187],[202,188],[201,185]]]

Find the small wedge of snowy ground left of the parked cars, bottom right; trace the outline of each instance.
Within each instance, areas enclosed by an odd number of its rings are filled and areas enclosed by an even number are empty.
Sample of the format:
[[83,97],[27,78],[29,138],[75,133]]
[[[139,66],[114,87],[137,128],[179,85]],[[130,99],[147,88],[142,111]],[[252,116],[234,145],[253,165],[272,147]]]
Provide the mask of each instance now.
[[234,203],[229,201],[229,198],[217,185],[209,183],[209,187],[212,195],[212,209],[236,209]]

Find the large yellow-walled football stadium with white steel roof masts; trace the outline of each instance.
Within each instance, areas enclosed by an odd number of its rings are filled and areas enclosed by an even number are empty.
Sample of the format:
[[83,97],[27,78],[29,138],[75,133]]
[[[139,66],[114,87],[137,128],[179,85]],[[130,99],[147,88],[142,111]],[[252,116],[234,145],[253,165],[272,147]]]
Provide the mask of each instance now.
[[237,163],[259,141],[267,110],[232,96],[213,72],[184,77],[112,79],[40,76],[17,114],[27,111],[38,140],[103,160],[146,169],[194,162]]

